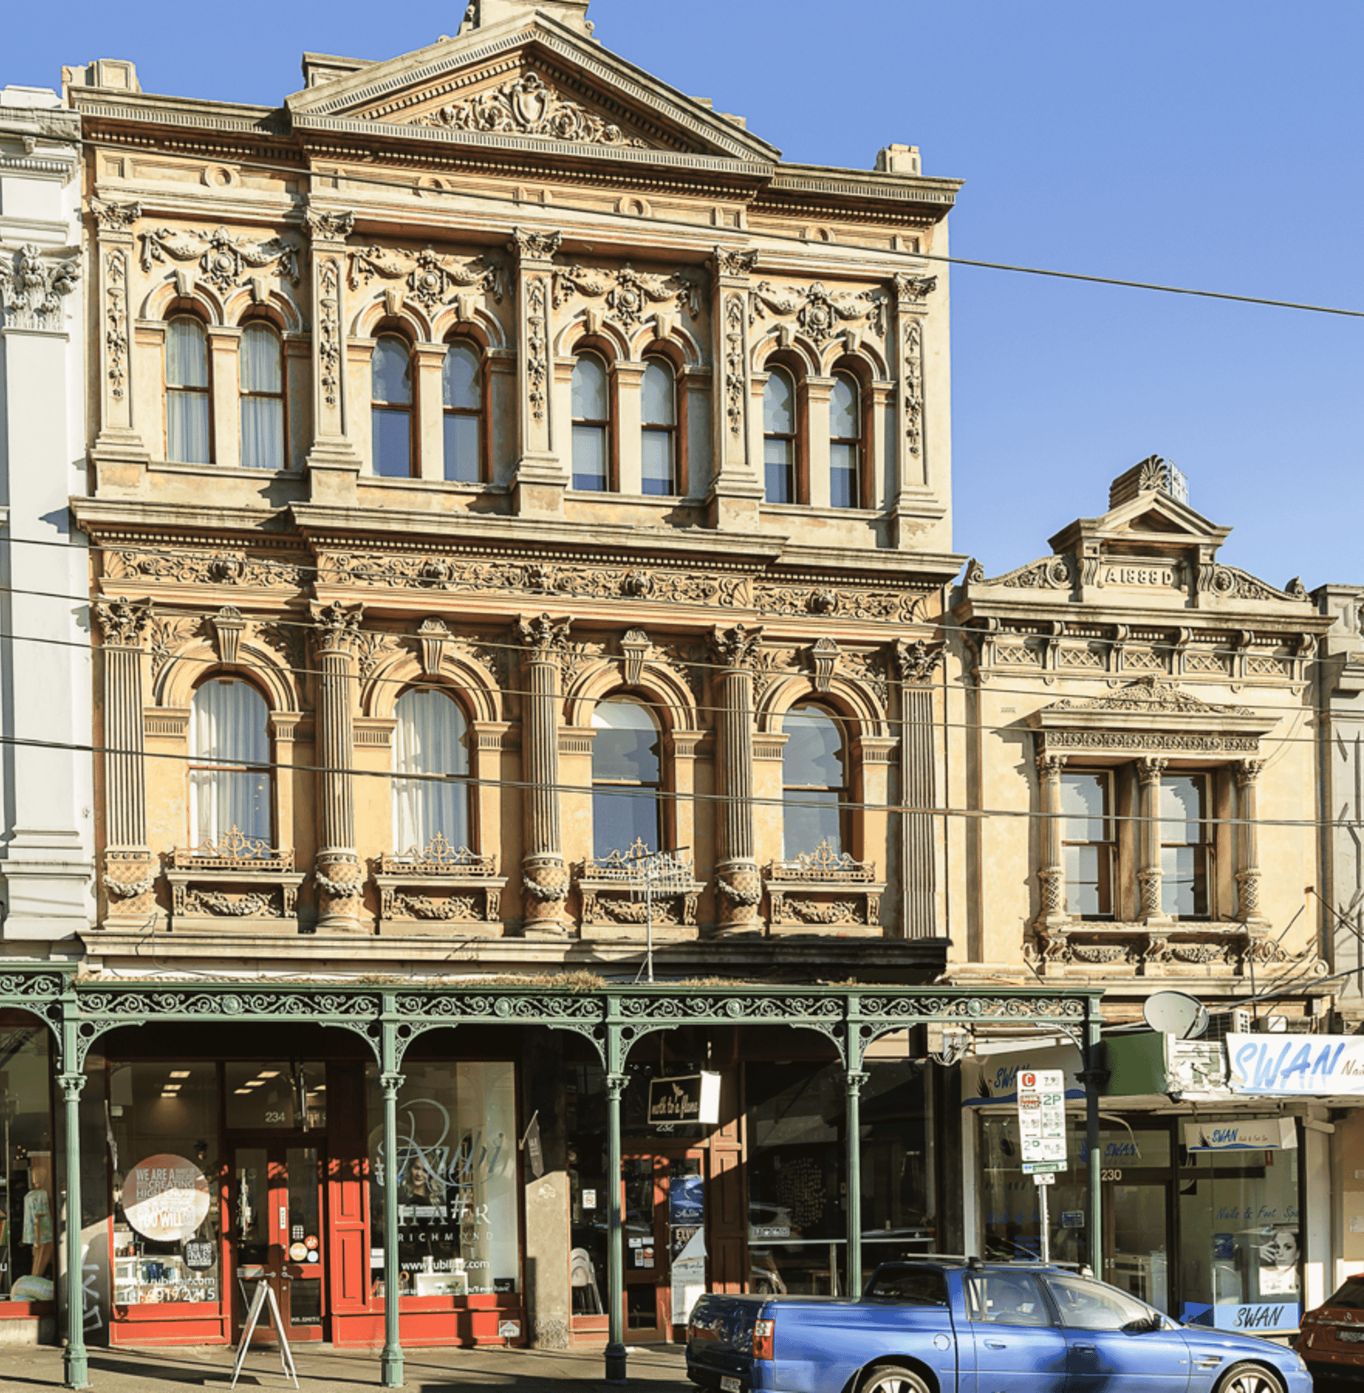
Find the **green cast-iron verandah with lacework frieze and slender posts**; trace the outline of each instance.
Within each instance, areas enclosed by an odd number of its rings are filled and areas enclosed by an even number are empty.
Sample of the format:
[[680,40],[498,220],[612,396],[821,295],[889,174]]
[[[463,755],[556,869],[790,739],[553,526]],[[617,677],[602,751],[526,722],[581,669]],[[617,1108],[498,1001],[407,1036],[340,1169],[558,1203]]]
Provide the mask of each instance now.
[[[403,1087],[403,1056],[419,1035],[454,1025],[542,1025],[573,1031],[591,1041],[606,1070],[607,1173],[620,1174],[620,1099],[628,1075],[626,1060],[645,1035],[683,1025],[790,1025],[818,1031],[839,1052],[847,1089],[847,1269],[861,1272],[860,1098],[867,1081],[867,1046],[882,1035],[911,1025],[1031,1027],[1067,1034],[1083,1048],[1087,1077],[1090,1153],[1090,1263],[1101,1229],[1098,1091],[1095,1048],[1099,1041],[1101,988],[1049,990],[1000,988],[968,992],[952,986],[652,986],[600,985],[574,988],[468,983],[327,983],[78,981],[75,968],[7,967],[0,972],[0,1009],[18,1009],[47,1024],[54,1036],[57,1081],[65,1121],[65,1212],[81,1212],[79,1098],[85,1056],[109,1031],[152,1021],[210,1020],[237,1024],[300,1024],[351,1031],[369,1045],[383,1089],[385,1270],[397,1272],[397,1098]],[[610,1309],[606,1378],[626,1380],[624,1251],[620,1187],[610,1187],[607,1209],[607,1291]],[[65,1270],[82,1268],[81,1226],[65,1230]],[[67,1387],[89,1386],[82,1290],[67,1283]],[[398,1302],[385,1302],[385,1344],[380,1385],[403,1386]]]

